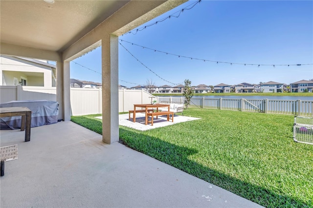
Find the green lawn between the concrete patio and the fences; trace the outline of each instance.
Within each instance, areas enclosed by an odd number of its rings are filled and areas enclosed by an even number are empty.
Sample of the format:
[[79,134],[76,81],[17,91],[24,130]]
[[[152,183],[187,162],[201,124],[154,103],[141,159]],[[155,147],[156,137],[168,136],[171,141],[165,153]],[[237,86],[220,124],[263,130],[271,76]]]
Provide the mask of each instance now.
[[[313,145],[292,139],[293,116],[184,110],[200,120],[139,131],[120,126],[126,146],[265,207],[313,207]],[[72,121],[101,133],[89,116]]]

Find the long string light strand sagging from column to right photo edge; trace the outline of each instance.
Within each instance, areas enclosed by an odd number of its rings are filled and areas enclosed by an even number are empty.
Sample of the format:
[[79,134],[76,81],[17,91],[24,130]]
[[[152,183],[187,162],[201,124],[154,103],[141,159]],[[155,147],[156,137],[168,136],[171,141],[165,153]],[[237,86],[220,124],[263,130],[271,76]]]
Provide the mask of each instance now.
[[135,46],[139,46],[139,47],[142,47],[143,49],[149,49],[149,50],[153,50],[154,52],[159,52],[159,53],[164,53],[166,55],[172,55],[172,56],[176,56],[178,58],[182,57],[182,58],[186,58],[186,59],[191,59],[191,60],[199,60],[199,61],[203,61],[203,62],[216,62],[217,64],[218,63],[227,63],[227,64],[237,64],[237,65],[255,65],[255,66],[301,66],[301,65],[313,65],[313,63],[302,63],[302,64],[259,64],[259,63],[234,63],[234,62],[220,62],[220,61],[213,61],[213,60],[207,60],[207,59],[198,59],[198,58],[195,58],[195,57],[188,57],[188,56],[181,56],[181,55],[177,55],[177,54],[173,54],[173,53],[169,53],[169,52],[164,52],[164,51],[160,51],[160,50],[156,50],[156,49],[153,49],[153,48],[148,48],[146,46],[142,46],[142,45],[138,45],[138,44],[135,44],[135,43],[132,43],[132,42],[128,42],[128,41],[124,41],[124,40],[121,40],[119,39],[120,41],[122,42],[127,42],[127,43],[131,43],[132,45],[135,45]]

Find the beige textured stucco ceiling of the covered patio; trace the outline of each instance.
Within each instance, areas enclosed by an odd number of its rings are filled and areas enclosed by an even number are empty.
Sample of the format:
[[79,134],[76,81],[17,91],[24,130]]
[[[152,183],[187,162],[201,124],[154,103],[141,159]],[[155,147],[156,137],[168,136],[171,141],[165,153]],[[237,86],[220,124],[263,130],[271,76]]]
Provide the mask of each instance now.
[[0,0],[1,42],[64,51],[129,0]]

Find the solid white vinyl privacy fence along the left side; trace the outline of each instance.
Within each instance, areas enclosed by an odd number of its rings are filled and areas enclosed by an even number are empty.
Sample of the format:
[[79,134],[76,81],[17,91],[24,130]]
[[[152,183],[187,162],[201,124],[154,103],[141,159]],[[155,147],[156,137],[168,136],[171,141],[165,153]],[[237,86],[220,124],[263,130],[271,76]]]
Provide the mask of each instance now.
[[[134,104],[151,103],[154,96],[144,90],[118,90],[118,110],[127,112]],[[56,101],[56,87],[0,86],[0,103],[10,101],[49,100]],[[70,88],[71,115],[102,113],[101,88]]]

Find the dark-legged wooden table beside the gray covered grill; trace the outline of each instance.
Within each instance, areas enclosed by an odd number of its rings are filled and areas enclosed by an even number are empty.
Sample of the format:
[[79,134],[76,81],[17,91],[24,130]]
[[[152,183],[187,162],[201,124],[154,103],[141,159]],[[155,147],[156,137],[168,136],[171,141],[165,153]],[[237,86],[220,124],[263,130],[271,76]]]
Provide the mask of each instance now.
[[25,131],[25,142],[30,141],[31,110],[27,107],[0,107],[0,118],[22,116],[21,131]]

